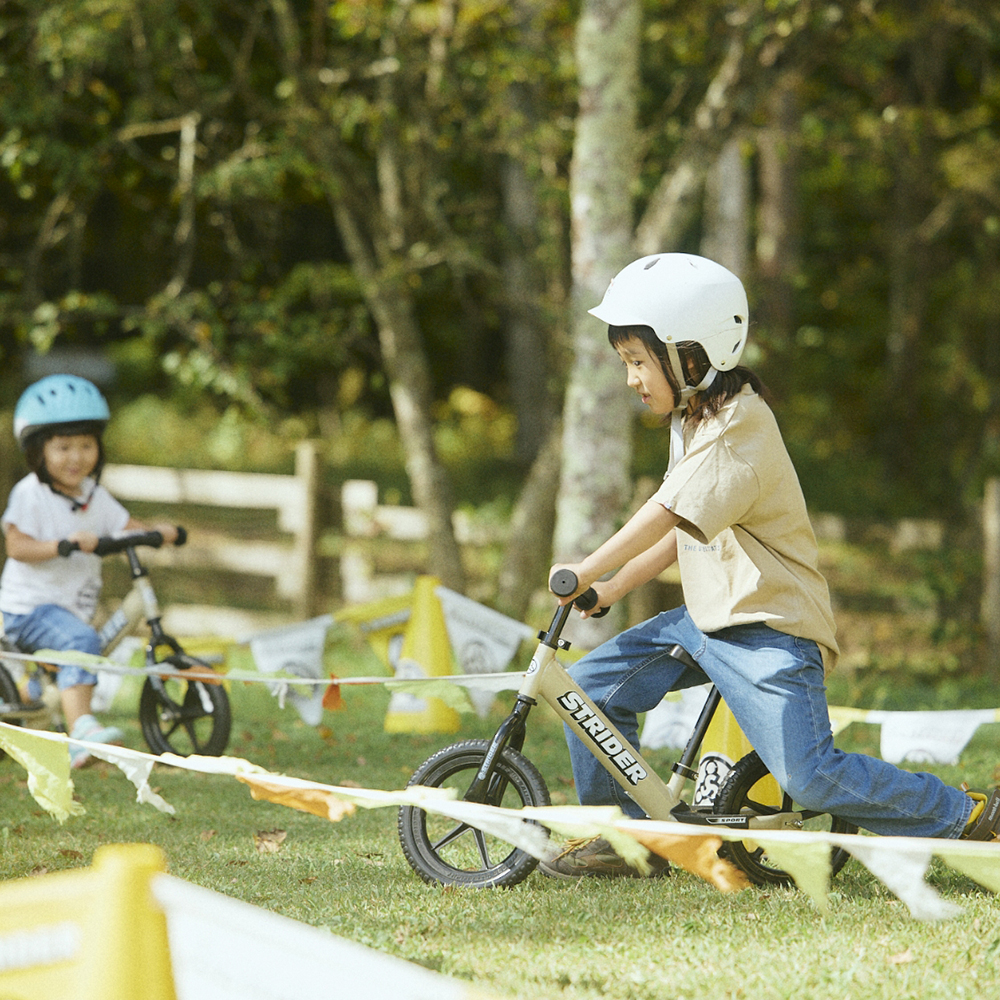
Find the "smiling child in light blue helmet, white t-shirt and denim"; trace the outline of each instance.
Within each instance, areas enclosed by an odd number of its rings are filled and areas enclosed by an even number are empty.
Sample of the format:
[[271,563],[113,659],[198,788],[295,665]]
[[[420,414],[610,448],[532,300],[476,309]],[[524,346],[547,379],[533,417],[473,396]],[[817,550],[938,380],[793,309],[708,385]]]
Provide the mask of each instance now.
[[[145,528],[99,482],[101,435],[109,417],[97,387],[75,375],[36,382],[14,409],[14,436],[31,471],[11,490],[0,521],[7,547],[0,613],[5,635],[25,652],[101,652],[90,624],[101,592],[101,560],[93,554],[97,540]],[[172,525],[156,530],[167,542],[177,537]],[[78,549],[70,551],[68,543]],[[121,731],[102,725],[91,712],[96,683],[82,667],[58,668],[66,731],[93,743],[121,742]],[[70,759],[82,767],[90,755],[71,744]]]

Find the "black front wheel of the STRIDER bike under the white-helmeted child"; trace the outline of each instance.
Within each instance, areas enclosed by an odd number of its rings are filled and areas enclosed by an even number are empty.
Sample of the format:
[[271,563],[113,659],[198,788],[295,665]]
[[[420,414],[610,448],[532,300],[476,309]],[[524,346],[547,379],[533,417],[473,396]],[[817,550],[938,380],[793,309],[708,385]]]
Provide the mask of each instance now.
[[[465,794],[478,772],[488,740],[466,740],[439,750],[424,761],[407,784],[430,788],[456,788]],[[489,805],[519,809],[549,805],[549,790],[538,769],[515,750],[504,750],[497,759],[499,780]],[[403,854],[425,882],[479,889],[512,886],[523,882],[538,859],[506,841],[415,806],[399,810],[399,840]]]

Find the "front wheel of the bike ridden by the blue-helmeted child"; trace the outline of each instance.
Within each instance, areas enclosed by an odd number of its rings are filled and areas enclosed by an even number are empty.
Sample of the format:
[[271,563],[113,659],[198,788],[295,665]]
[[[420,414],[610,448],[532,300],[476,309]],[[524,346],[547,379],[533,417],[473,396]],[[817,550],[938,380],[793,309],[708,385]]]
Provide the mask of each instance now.
[[139,724],[155,754],[218,757],[232,728],[229,696],[221,684],[149,678],[139,696]]

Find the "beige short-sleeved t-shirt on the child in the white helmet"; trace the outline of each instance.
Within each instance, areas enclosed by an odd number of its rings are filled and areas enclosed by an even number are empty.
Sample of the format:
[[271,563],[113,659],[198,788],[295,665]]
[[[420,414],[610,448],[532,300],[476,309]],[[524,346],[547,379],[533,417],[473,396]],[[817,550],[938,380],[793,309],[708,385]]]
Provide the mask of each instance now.
[[802,488],[774,414],[750,388],[693,430],[653,500],[673,511],[684,601],[702,632],[764,622],[838,649]]

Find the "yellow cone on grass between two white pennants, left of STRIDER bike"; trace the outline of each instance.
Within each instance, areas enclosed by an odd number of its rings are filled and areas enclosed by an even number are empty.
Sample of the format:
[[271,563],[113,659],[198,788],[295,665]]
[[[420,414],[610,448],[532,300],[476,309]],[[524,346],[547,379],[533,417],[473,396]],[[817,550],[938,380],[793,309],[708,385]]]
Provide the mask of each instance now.
[[[396,676],[443,677],[451,670],[451,644],[441,602],[434,593],[440,581],[417,577],[410,621],[399,653]],[[385,715],[387,733],[453,733],[459,727],[458,713],[440,698],[420,698],[395,691]]]

